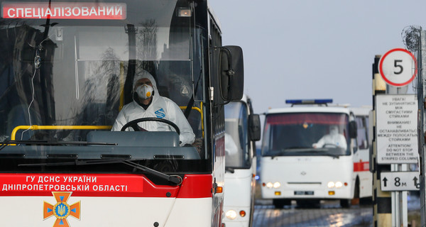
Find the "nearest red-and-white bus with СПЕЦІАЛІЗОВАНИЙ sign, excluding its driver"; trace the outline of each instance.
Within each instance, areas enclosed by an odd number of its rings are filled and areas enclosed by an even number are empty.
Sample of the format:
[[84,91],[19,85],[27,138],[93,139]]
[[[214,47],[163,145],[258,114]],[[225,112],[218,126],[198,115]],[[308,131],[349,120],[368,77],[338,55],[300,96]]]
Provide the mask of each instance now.
[[[243,57],[207,1],[2,1],[0,226],[221,226],[224,104]],[[184,111],[110,131],[135,72]],[[173,122],[158,118],[173,128]]]

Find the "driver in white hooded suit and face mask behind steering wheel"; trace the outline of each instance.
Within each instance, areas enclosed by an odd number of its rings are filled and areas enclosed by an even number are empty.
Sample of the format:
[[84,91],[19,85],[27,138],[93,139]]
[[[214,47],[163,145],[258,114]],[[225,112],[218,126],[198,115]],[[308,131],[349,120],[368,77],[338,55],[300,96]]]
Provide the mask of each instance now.
[[[126,123],[138,118],[163,118],[178,126],[180,146],[194,143],[195,134],[192,132],[185,115],[175,102],[160,96],[155,79],[149,72],[142,70],[142,72],[135,74],[133,92],[136,92],[137,96],[133,95],[133,101],[123,106],[111,131],[121,131]],[[175,131],[167,123],[158,121],[143,121],[139,122],[138,126],[142,128],[141,131]],[[129,127],[126,131],[133,131],[133,129],[131,130],[131,127]]]

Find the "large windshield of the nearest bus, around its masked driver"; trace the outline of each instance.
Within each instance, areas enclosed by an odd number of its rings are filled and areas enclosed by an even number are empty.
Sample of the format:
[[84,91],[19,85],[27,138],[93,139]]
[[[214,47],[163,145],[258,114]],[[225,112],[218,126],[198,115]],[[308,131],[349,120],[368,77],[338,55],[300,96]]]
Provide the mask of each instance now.
[[[206,171],[208,155],[202,146],[155,148],[169,145],[158,136],[143,135],[150,143],[119,150],[121,144],[109,137],[89,136],[92,131],[111,129],[121,108],[133,100],[133,76],[143,69],[153,75],[161,96],[182,111],[192,108],[187,120],[195,140],[203,142],[201,59],[206,54],[195,50],[204,50],[200,46],[207,43],[207,35],[195,26],[192,10],[192,3],[180,0],[3,2],[0,140],[43,144],[8,145],[1,152],[35,163],[55,155],[58,160],[108,155],[178,160],[168,171]],[[114,145],[103,145],[109,142]],[[139,145],[152,149],[136,149]],[[196,154],[188,155],[185,149]],[[187,163],[203,159],[199,165]],[[178,167],[178,162],[185,165]]]

